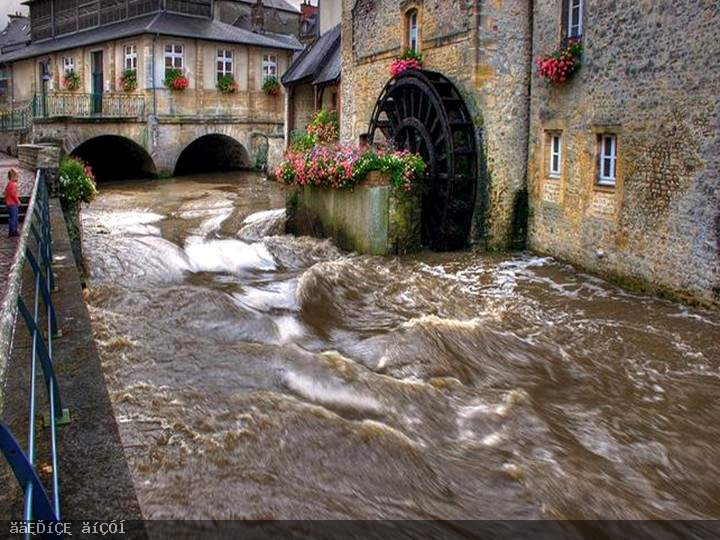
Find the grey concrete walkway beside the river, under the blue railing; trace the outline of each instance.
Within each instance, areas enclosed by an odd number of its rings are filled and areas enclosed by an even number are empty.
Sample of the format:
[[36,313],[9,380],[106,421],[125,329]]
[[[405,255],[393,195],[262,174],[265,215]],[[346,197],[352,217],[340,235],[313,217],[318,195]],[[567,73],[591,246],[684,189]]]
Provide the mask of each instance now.
[[[54,270],[59,290],[53,294],[62,337],[53,341],[53,357],[63,407],[72,422],[58,428],[62,517],[65,520],[127,520],[127,538],[145,538],[142,514],[118,432],[95,346],[80,276],[73,261],[67,228],[57,199],[51,201]],[[34,244],[31,241],[31,245]],[[23,297],[32,298],[32,273],[25,265]],[[8,364],[3,421],[25,447],[27,440],[30,339],[16,327]],[[40,379],[41,381],[41,379]],[[38,411],[46,411],[39,383]],[[49,432],[39,428],[37,468],[49,482]],[[22,492],[0,457],[0,520],[22,516]],[[9,486],[6,489],[5,486]],[[0,534],[0,537],[2,534]]]

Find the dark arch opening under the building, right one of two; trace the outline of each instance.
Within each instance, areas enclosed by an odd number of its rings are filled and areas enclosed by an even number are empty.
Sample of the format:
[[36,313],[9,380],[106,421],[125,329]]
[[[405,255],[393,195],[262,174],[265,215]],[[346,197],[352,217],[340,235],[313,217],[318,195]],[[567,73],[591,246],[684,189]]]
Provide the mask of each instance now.
[[252,161],[247,148],[222,133],[202,135],[188,144],[175,163],[175,175],[247,169]]

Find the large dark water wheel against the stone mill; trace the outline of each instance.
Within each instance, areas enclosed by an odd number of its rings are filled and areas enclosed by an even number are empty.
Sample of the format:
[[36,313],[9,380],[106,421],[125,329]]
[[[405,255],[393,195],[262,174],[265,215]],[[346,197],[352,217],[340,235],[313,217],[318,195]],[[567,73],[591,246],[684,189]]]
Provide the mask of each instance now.
[[380,94],[369,129],[428,164],[422,181],[423,243],[438,251],[466,245],[477,195],[477,143],[465,102],[440,73],[408,70]]

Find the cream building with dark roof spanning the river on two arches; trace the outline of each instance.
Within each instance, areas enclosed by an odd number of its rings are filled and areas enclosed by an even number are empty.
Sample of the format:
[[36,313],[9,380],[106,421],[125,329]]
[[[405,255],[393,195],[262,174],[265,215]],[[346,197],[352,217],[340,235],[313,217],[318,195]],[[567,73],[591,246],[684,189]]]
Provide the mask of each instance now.
[[[32,106],[35,140],[59,140],[118,174],[129,165],[186,171],[188,156],[201,151],[213,158],[205,163],[233,168],[281,155],[282,89],[270,95],[263,85],[301,49],[296,36],[217,20],[212,0],[29,6],[31,43],[0,62],[9,66],[14,106]],[[167,86],[173,72],[185,77],[184,89]],[[226,77],[234,92],[221,91]]]

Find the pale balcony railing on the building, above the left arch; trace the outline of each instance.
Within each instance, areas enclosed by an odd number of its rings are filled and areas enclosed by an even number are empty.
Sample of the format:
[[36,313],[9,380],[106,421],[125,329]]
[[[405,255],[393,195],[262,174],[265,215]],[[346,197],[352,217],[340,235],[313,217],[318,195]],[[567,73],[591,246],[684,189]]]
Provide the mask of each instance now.
[[50,92],[33,100],[35,118],[144,118],[145,97],[133,94]]

